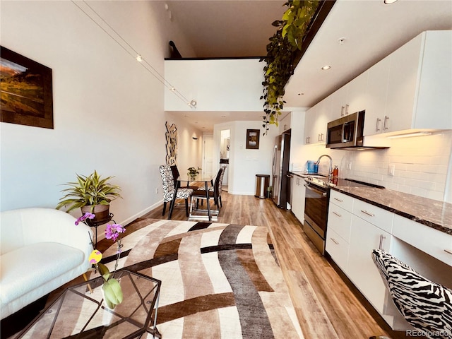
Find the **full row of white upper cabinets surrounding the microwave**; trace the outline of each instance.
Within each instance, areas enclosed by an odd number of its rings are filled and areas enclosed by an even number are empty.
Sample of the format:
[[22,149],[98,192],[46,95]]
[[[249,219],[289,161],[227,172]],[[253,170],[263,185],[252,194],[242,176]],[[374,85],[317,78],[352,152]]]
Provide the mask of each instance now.
[[324,143],[329,121],[363,109],[364,136],[452,129],[451,60],[452,30],[422,32],[309,109],[305,143]]

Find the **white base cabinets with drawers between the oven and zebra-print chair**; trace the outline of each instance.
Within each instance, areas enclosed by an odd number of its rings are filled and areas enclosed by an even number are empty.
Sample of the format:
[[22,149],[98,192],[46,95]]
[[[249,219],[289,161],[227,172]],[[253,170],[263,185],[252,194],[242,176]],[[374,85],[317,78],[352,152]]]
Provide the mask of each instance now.
[[380,314],[384,313],[387,303],[386,287],[371,251],[379,248],[391,251],[391,234],[376,225],[392,230],[392,215],[359,199],[331,191],[326,251]]

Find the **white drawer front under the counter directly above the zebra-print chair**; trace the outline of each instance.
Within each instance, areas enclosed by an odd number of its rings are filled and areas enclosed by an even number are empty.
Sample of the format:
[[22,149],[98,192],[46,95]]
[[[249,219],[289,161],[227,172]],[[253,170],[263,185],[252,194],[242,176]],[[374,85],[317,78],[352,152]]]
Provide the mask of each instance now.
[[452,266],[451,234],[395,215],[393,236]]

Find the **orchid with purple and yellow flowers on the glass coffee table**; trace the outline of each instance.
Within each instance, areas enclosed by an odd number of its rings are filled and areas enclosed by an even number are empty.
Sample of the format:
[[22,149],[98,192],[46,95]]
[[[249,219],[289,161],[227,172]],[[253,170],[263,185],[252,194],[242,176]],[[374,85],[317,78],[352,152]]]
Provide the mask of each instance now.
[[[84,222],[88,225],[86,220],[92,220],[93,218],[95,218],[93,213],[85,213],[76,220],[76,225],[80,222]],[[105,229],[105,239],[112,239],[113,242],[116,242],[117,244],[116,261],[114,263],[113,272],[110,272],[108,267],[100,262],[102,260],[102,253],[94,248],[93,239],[91,239],[91,244],[93,244],[93,252],[91,252],[88,257],[88,261],[96,268],[102,277],[103,283],[101,288],[104,295],[104,302],[109,309],[114,309],[114,307],[121,304],[124,299],[121,285],[119,285],[118,279],[114,278],[118,268],[119,257],[121,256],[121,240],[124,232],[126,232],[125,227],[119,224],[108,224]]]

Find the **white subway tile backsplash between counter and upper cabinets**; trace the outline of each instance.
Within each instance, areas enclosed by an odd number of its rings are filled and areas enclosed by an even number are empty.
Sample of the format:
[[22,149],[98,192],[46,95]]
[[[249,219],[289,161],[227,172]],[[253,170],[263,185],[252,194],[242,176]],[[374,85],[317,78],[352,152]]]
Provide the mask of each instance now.
[[[333,150],[334,160],[340,159],[341,177],[352,177],[416,196],[446,201],[451,191],[452,131],[430,136],[391,139],[385,150]],[[347,165],[351,169],[347,169]],[[394,167],[393,175],[388,167]],[[449,201],[450,202],[450,201]]]

